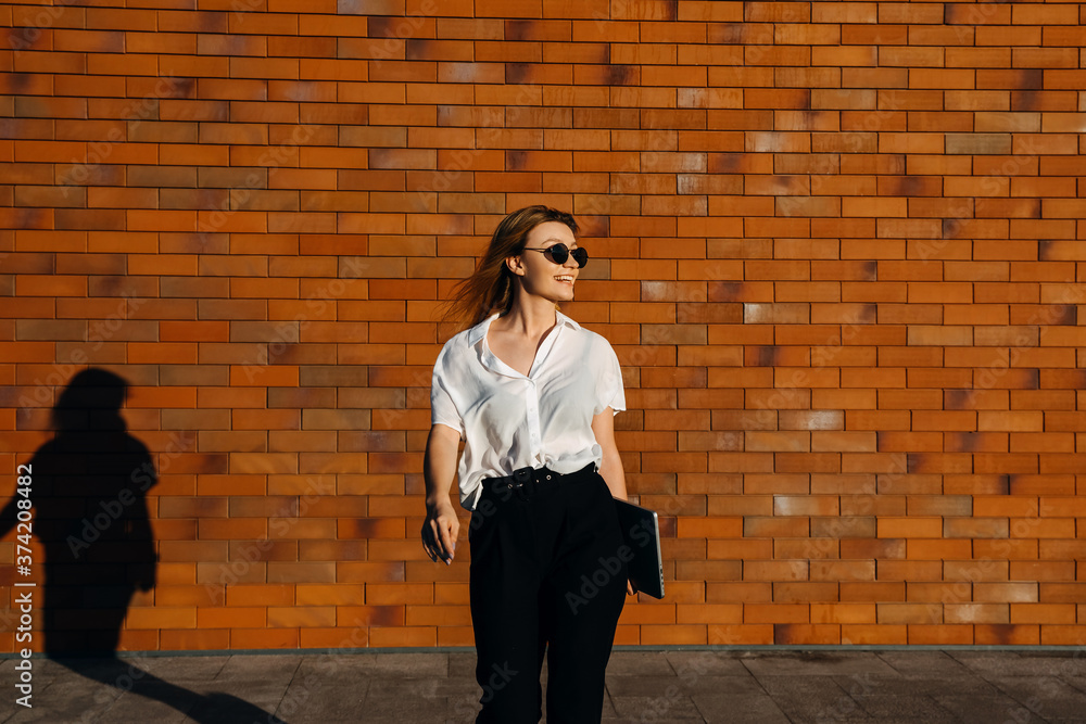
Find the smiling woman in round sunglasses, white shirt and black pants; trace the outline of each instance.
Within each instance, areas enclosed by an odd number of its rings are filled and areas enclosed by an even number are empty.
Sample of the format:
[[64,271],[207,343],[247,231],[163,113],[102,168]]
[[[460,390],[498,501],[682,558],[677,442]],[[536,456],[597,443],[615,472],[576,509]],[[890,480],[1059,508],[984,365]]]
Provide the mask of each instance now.
[[[557,310],[588,253],[569,214],[530,206],[498,225],[456,297],[473,326],[438,355],[422,545],[451,563],[472,511],[478,722],[598,722],[627,582],[614,497],[626,499],[614,416],[626,408],[607,341]],[[459,467],[457,445],[464,441]]]

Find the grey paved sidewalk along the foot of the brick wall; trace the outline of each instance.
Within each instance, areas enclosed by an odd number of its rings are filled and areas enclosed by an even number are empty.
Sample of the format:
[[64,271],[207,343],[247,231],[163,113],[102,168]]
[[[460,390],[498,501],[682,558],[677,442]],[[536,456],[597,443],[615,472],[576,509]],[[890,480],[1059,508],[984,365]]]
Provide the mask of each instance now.
[[[0,722],[469,723],[480,696],[470,650],[29,661],[33,708],[0,661]],[[1086,722],[1086,649],[616,649],[603,721]]]

